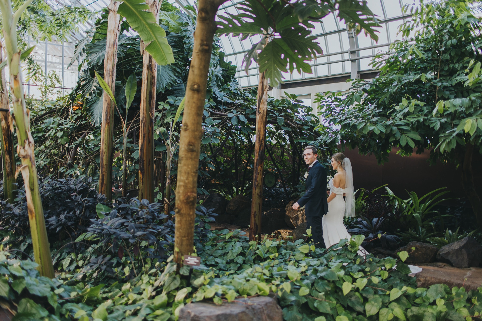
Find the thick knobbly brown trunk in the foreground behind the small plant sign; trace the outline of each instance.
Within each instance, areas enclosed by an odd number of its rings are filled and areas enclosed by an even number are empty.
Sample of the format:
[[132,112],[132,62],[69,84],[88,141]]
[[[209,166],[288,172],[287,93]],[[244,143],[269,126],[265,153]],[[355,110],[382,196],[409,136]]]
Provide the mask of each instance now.
[[178,267],[183,256],[193,252],[194,218],[199,155],[202,138],[202,112],[206,99],[209,63],[216,32],[217,9],[222,0],[199,0],[194,48],[187,77],[186,102],[179,141],[179,165],[176,188],[176,229],[174,260]]

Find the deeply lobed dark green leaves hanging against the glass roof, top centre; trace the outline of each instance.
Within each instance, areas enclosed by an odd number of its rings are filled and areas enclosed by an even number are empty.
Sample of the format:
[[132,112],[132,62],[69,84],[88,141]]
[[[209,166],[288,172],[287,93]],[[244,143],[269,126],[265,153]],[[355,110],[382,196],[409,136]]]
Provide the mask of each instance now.
[[330,13],[344,20],[357,33],[363,29],[372,39],[378,40],[374,27],[378,26],[366,1],[300,0],[283,2],[274,0],[247,0],[239,4],[243,13],[219,15],[219,34],[232,34],[246,39],[261,35],[244,56],[243,64],[248,71],[252,62],[259,64],[259,72],[265,72],[271,86],[282,81],[282,72],[297,70],[311,74],[307,63],[322,54],[317,38],[311,34],[313,22]]

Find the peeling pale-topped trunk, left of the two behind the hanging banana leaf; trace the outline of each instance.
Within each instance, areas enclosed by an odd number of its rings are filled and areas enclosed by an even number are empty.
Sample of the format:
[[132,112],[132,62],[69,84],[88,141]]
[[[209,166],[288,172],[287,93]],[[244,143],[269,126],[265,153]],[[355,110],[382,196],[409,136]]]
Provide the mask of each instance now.
[[[104,80],[115,95],[117,41],[120,31],[120,16],[117,14],[120,2],[110,0],[107,21],[107,46],[104,60]],[[114,143],[114,102],[104,93],[102,127],[100,139],[99,193],[105,194],[107,201],[112,199],[112,145]]]

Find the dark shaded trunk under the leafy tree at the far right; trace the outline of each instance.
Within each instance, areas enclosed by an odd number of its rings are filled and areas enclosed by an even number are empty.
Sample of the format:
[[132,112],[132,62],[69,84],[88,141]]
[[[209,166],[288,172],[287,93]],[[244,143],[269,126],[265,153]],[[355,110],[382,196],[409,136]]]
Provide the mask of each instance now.
[[477,225],[482,228],[482,202],[479,194],[475,189],[473,172],[472,172],[472,154],[474,151],[474,145],[467,143],[465,145],[464,162],[462,165],[462,186],[464,192],[469,198],[469,202],[472,205],[472,210],[477,220]]

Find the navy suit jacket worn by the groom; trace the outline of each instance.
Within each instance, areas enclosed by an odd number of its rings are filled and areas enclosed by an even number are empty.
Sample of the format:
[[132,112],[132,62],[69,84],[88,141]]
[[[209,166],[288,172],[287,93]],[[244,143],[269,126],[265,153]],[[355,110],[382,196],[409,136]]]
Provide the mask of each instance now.
[[323,216],[328,213],[326,169],[320,162],[316,162],[309,169],[306,179],[306,193],[299,199],[298,204],[305,206],[307,217]]

